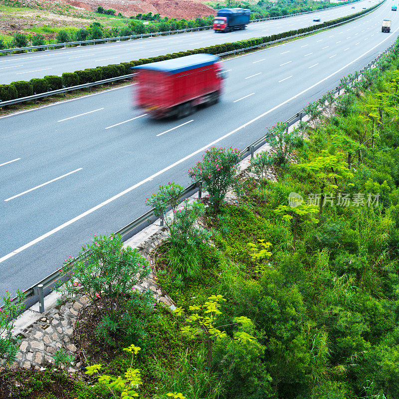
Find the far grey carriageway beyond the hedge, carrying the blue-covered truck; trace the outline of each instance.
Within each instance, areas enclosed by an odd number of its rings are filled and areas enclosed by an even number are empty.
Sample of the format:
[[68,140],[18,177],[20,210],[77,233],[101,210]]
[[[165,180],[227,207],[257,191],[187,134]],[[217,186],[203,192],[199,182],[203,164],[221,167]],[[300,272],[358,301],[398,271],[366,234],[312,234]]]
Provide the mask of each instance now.
[[[246,30],[237,30],[230,33],[215,33],[212,30],[205,30],[97,44],[95,46],[2,56],[0,57],[0,84],[7,84],[15,80],[42,78],[45,75],[61,75],[63,72],[118,64],[124,61],[238,41],[250,37],[267,36],[353,14],[361,11],[363,7],[370,8],[378,2],[378,0],[363,0],[311,14],[250,23]],[[355,9],[352,9],[352,7],[355,7]],[[321,22],[313,22],[316,16],[321,18]]]

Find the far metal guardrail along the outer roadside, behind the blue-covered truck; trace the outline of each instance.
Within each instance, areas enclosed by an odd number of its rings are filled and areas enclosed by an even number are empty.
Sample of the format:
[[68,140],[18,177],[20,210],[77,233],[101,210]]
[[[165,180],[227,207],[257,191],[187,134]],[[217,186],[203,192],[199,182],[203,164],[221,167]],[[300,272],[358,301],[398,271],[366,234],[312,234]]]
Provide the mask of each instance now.
[[[259,19],[251,19],[249,23],[253,22],[263,22],[263,21],[268,21],[272,19],[281,19],[281,18],[287,18],[290,16],[296,16],[296,15],[303,15],[303,14],[310,14],[313,12],[318,12],[318,11],[325,11],[327,9],[333,9],[333,8],[338,8],[342,7],[344,5],[352,4],[354,2],[358,2],[361,0],[356,0],[352,1],[351,3],[345,3],[341,5],[336,5],[334,7],[329,7],[329,8],[323,8],[323,9],[316,9],[316,10],[311,10],[311,11],[304,11],[304,12],[297,12],[295,14],[287,14],[287,15],[280,15],[280,16],[272,16],[272,17],[267,17],[267,18],[259,18]],[[152,32],[152,33],[142,33],[142,34],[134,34],[134,35],[129,35],[129,36],[116,36],[116,37],[104,37],[101,39],[90,39],[90,40],[79,40],[79,41],[68,41],[65,43],[52,43],[52,44],[41,44],[37,46],[27,46],[27,47],[14,47],[14,48],[5,48],[3,50],[0,50],[0,54],[4,53],[7,54],[9,52],[14,52],[14,51],[29,51],[31,52],[32,50],[35,49],[47,49],[49,50],[50,48],[54,47],[60,47],[60,48],[66,48],[66,46],[81,46],[82,44],[98,44],[98,43],[103,43],[103,42],[112,42],[112,41],[121,41],[121,40],[134,40],[134,39],[142,39],[144,37],[153,37],[153,36],[159,36],[159,35],[165,35],[165,34],[177,34],[177,33],[187,33],[187,32],[194,32],[195,30],[201,30],[201,29],[211,29],[213,25],[205,25],[205,26],[198,26],[195,28],[186,28],[186,29],[176,29],[176,30],[168,30],[165,32]]]

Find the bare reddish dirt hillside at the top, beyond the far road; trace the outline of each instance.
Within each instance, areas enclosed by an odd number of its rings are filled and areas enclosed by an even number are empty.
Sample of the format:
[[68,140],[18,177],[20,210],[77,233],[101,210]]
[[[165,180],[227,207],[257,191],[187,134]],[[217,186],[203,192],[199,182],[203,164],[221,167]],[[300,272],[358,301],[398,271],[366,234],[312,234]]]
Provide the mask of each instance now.
[[206,4],[191,0],[63,0],[75,7],[95,10],[99,5],[112,8],[125,16],[138,13],[160,13],[162,16],[192,19],[215,15],[216,11]]

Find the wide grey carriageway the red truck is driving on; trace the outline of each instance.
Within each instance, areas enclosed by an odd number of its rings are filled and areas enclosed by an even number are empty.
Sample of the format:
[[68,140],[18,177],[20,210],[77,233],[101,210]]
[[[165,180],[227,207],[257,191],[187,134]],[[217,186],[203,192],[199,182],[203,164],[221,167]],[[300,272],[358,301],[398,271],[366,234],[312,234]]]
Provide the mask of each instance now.
[[[384,18],[391,33],[381,32]],[[0,118],[0,293],[28,288],[94,234],[130,223],[159,185],[187,186],[209,146],[245,148],[361,69],[398,30],[387,1],[349,24],[226,60],[220,102],[181,120],[132,109],[134,85]]]

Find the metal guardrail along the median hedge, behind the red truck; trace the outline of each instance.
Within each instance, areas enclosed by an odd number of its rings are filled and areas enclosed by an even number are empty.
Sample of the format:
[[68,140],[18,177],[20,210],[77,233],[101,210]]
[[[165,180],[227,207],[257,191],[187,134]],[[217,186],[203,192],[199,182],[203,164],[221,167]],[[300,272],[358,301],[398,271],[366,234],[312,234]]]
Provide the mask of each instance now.
[[[298,34],[293,35],[293,36],[287,36],[287,37],[283,37],[281,39],[277,39],[277,40],[273,40],[273,41],[268,41],[266,43],[256,44],[256,45],[250,46],[250,47],[245,47],[245,48],[239,48],[237,50],[226,51],[224,53],[219,53],[219,54],[216,54],[216,55],[223,56],[223,55],[229,55],[229,54],[236,54],[236,53],[252,50],[254,48],[266,47],[266,46],[268,46],[270,44],[279,43],[281,41],[289,40],[289,39],[292,39],[292,38],[295,38],[295,37],[306,36],[307,34],[318,32],[320,30],[330,29],[331,27],[342,25],[344,23],[347,23],[347,22],[350,22],[350,21],[353,21],[355,19],[363,17],[364,15],[368,14],[369,12],[372,12],[375,9],[377,9],[379,6],[381,6],[383,4],[383,2],[384,1],[382,1],[376,8],[368,10],[367,12],[365,12],[362,15],[356,16],[356,17],[351,18],[351,19],[347,19],[347,20],[342,21],[342,22],[335,23],[333,25],[324,26],[324,27],[319,28],[319,29],[310,30],[310,31],[304,32],[304,33],[298,33]],[[0,99],[0,110],[1,110],[2,107],[6,106],[6,105],[17,104],[17,103],[21,103],[21,102],[24,102],[24,101],[30,101],[30,100],[34,100],[35,104],[36,104],[36,100],[38,98],[48,97],[48,96],[52,96],[52,95],[55,95],[55,94],[61,94],[61,93],[65,93],[65,92],[73,91],[73,90],[78,90],[78,89],[84,89],[86,87],[97,86],[97,85],[101,85],[101,84],[105,84],[105,83],[112,83],[112,82],[115,82],[115,81],[118,81],[118,80],[128,79],[131,76],[132,76],[132,74],[118,76],[118,77],[115,77],[115,78],[109,78],[109,79],[104,79],[104,80],[98,80],[98,81],[92,82],[92,83],[85,83],[85,84],[77,85],[77,86],[64,87],[62,89],[47,91],[45,93],[33,94],[32,96],[28,96],[28,97],[16,98],[14,100],[1,101],[1,99]]]

